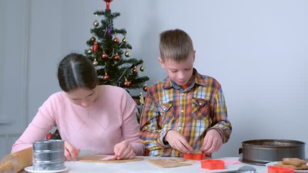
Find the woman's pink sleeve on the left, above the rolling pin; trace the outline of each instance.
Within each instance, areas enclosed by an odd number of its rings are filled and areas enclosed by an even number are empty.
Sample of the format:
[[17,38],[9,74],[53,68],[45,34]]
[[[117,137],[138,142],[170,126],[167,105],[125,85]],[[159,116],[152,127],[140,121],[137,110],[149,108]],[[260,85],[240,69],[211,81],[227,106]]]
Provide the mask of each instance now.
[[33,141],[42,141],[55,125],[55,119],[50,113],[51,100],[48,99],[38,109],[32,122],[12,147],[12,153],[31,147]]

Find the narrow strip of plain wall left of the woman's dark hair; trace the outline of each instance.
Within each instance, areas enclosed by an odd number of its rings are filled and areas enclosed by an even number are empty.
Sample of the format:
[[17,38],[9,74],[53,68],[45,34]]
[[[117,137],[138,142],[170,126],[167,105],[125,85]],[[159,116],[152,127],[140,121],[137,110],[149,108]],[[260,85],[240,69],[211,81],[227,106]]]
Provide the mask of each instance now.
[[60,90],[57,65],[62,53],[62,1],[30,1],[28,115],[32,120],[43,102]]

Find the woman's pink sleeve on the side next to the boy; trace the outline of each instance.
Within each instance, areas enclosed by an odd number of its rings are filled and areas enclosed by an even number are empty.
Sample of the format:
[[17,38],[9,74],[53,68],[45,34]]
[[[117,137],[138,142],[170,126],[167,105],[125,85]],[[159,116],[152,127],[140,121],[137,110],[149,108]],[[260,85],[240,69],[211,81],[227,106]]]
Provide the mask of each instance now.
[[143,155],[144,145],[138,141],[138,122],[136,116],[136,104],[134,100],[125,92],[124,98],[122,99],[122,114],[123,114],[123,124],[122,124],[122,134],[126,141],[130,144],[136,151],[136,155]]

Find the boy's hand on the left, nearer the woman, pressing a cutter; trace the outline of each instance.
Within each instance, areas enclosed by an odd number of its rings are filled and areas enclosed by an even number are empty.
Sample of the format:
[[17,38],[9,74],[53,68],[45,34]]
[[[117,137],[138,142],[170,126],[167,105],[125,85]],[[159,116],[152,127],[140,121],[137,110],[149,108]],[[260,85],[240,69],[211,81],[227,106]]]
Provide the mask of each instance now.
[[188,144],[186,139],[176,131],[168,131],[164,139],[172,148],[177,149],[182,153],[189,154],[190,151],[194,150],[193,147]]

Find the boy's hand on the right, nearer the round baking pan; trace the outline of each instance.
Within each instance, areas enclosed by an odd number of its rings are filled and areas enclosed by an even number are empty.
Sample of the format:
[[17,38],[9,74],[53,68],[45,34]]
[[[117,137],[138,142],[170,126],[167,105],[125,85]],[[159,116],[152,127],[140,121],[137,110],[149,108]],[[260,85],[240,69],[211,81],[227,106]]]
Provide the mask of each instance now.
[[210,129],[203,140],[203,146],[200,148],[206,154],[211,154],[218,151],[222,145],[220,134],[215,129]]

